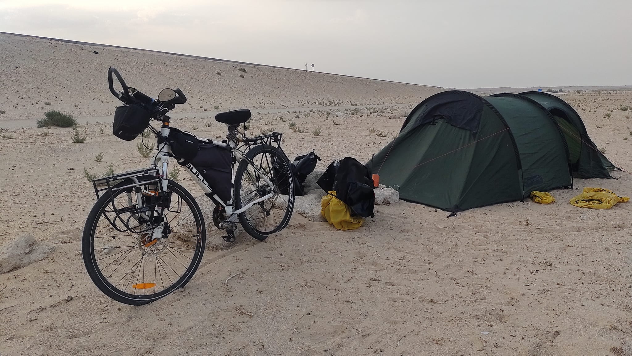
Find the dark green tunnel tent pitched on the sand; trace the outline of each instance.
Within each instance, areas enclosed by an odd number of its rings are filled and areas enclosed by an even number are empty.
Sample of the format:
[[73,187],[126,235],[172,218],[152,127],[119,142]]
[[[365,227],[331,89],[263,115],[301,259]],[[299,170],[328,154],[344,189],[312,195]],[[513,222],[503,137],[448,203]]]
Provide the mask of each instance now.
[[[600,160],[591,164],[604,166]],[[460,90],[416,106],[399,136],[367,166],[380,183],[398,186],[401,199],[446,211],[569,187],[574,169],[561,125],[535,99]]]

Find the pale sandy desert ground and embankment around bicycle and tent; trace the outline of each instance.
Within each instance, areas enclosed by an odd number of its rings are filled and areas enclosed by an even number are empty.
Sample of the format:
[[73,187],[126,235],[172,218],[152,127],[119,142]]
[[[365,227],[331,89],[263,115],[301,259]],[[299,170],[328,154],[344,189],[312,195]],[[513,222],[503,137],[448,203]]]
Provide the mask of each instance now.
[[[614,172],[617,180],[575,180],[578,190],[554,190],[550,206],[512,202],[446,219],[399,202],[377,206],[375,218],[353,231],[295,214],[266,242],[240,236],[227,245],[209,235],[217,243],[185,288],[142,307],[113,302],[92,284],[80,255],[95,198],[83,168],[123,171],[147,159],[137,142],[111,135],[108,65],[149,93],[167,83],[185,90],[191,106],[176,111],[173,126],[199,136],[225,130],[200,104],[252,107],[252,132],[284,132],[290,157],[316,149],[317,169],[344,156],[366,161],[401,127],[404,118],[391,113],[437,89],[266,67],[239,78],[227,63],[8,35],[0,47],[0,87],[9,97],[0,97],[0,127],[13,137],[0,139],[0,246],[24,233],[54,245],[44,261],[0,274],[1,355],[631,354],[632,203],[604,211],[568,204],[583,187],[632,194],[626,171]],[[614,109],[632,105],[632,92],[561,96],[606,155],[632,168],[630,111]],[[85,144],[71,143],[71,128],[34,127],[49,109],[45,101],[78,118]],[[360,112],[343,109],[350,104]],[[289,118],[306,133],[291,132]],[[317,127],[322,133],[312,135]],[[190,180],[180,183],[200,195]]]

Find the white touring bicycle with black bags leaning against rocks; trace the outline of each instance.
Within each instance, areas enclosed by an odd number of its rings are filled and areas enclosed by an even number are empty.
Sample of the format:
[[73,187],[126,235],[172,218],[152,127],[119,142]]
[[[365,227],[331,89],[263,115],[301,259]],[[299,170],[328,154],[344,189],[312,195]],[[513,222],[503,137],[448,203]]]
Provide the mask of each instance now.
[[[114,90],[112,74],[122,91]],[[251,114],[241,109],[216,115],[228,125],[226,140],[195,137],[171,127],[167,116],[176,104],[185,104],[181,90],[164,89],[153,99],[128,87],[112,67],[108,83],[123,102],[114,116],[114,135],[133,140],[147,128],[157,138],[157,152],[149,168],[92,180],[97,202],[83,229],[82,253],[101,292],[121,303],[147,304],[185,286],[200,265],[204,216],[191,193],[167,178],[170,158],[214,202],[213,223],[226,231],[227,242],[234,242],[237,222],[257,240],[288,225],[295,191],[282,133],[246,137],[246,126],[240,132],[239,125]]]

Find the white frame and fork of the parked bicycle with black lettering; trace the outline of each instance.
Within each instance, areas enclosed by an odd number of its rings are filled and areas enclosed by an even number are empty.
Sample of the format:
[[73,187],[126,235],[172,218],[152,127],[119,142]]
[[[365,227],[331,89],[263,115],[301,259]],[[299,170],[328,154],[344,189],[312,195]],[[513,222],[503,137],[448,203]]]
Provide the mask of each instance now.
[[[170,132],[169,127],[162,127],[160,129],[160,135],[162,138],[169,137],[169,132]],[[209,139],[206,139],[206,140],[209,140]],[[152,167],[155,167],[159,171],[159,177],[161,178],[162,190],[167,190],[167,183],[168,183],[167,169],[168,169],[168,163],[169,163],[169,158],[170,158],[169,157],[170,148],[169,148],[169,145],[164,144],[164,141],[166,140],[161,140],[161,141],[162,143],[158,145],[158,152],[154,156],[154,159],[152,159],[151,165]],[[214,140],[209,140],[209,142],[221,147],[226,147],[227,145],[227,144],[224,144],[224,142],[217,142]],[[237,142],[233,142],[232,140],[229,140],[228,144],[230,145],[229,147],[231,147],[231,156],[233,154],[235,155],[233,157],[236,157],[237,163],[240,163],[242,159],[247,159],[243,155],[243,152],[241,152],[240,150],[234,149],[236,147]],[[254,164],[252,166],[253,166],[253,169],[258,171],[258,169],[255,167]],[[191,178],[193,178],[193,180],[198,184],[198,186],[200,186],[200,188],[205,194],[212,193],[212,188],[210,187],[209,183],[207,183],[207,181],[204,180],[204,177],[200,175],[200,172],[195,167],[193,167],[193,164],[186,163],[184,167],[186,171],[189,173],[189,175],[191,176]],[[265,181],[265,183],[267,183],[270,187],[274,187],[274,185],[272,185],[272,182],[267,178],[266,175],[262,174],[261,172],[258,172],[258,173],[260,173],[261,178]],[[233,205],[234,203],[234,175],[231,175],[231,199],[228,202],[222,201],[222,199],[220,199],[217,196],[217,194],[212,195],[212,197],[214,197],[214,199],[224,207],[226,214],[228,215],[228,218],[226,218],[226,221],[231,221],[231,222],[235,222],[237,220],[238,215],[241,214],[241,212],[244,212],[250,209],[250,207],[252,207],[253,205],[259,202],[270,199],[273,196],[274,196],[274,193],[268,193],[264,195],[263,197],[253,200],[252,202],[248,202],[248,204],[241,207],[240,209],[233,210],[234,208],[234,205]]]

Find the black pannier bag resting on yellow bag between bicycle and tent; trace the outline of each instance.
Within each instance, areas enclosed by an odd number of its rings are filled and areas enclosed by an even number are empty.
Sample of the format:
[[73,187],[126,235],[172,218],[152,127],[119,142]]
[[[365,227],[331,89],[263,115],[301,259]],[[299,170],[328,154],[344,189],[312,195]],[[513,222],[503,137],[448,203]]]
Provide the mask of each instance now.
[[347,204],[355,214],[373,217],[375,192],[371,171],[352,157],[329,164],[325,173],[316,182],[322,190],[334,190],[336,197]]

